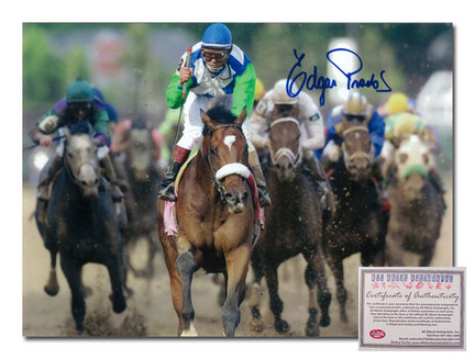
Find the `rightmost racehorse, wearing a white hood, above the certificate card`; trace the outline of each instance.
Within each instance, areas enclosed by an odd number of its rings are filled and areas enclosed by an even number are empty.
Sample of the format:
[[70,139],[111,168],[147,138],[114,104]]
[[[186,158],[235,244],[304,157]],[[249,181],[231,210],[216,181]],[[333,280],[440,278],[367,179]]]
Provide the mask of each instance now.
[[443,202],[429,180],[432,154],[417,135],[400,142],[395,171],[388,178],[391,216],[387,234],[388,262],[404,266],[405,251],[420,256],[419,267],[430,265],[443,215]]

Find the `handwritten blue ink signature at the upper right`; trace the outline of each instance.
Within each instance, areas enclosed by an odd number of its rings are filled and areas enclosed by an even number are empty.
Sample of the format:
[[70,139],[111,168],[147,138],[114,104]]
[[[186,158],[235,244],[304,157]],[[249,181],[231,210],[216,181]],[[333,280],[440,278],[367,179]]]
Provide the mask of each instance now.
[[[331,55],[335,54],[338,52],[346,52],[350,53],[352,55],[355,56],[356,60],[357,60],[357,68],[353,71],[345,71],[344,69],[341,68],[341,66],[339,64],[336,64],[334,60],[331,59]],[[287,77],[287,93],[289,97],[295,98],[297,97],[300,91],[303,88],[307,88],[307,90],[311,91],[311,90],[321,90],[321,94],[320,94],[320,105],[324,105],[325,102],[325,91],[329,89],[333,89],[336,87],[336,80],[335,79],[331,79],[324,76],[319,76],[318,74],[318,69],[317,66],[313,66],[313,72],[311,72],[310,75],[307,74],[306,71],[299,71],[299,67],[301,67],[301,63],[303,60],[303,58],[306,57],[306,54],[297,54],[297,51],[294,49],[294,56],[297,59],[297,63],[292,66],[292,68],[290,69],[290,72]],[[386,72],[385,70],[382,70],[379,72],[379,79],[383,82],[382,83],[382,88],[379,88],[379,81],[376,79],[376,76],[374,74],[372,74],[369,79],[355,79],[353,76],[358,74],[362,69],[363,69],[363,60],[361,59],[361,57],[358,56],[358,54],[356,54],[355,52],[349,49],[349,48],[334,48],[331,49],[327,53],[327,59],[340,71],[344,75],[344,77],[346,78],[346,89],[347,90],[352,90],[352,89],[363,89],[363,88],[373,88],[376,92],[390,92],[393,91],[393,89],[389,87],[389,85],[387,83],[387,81],[384,78],[384,74]],[[297,86],[297,81],[300,82],[300,87]],[[294,85],[296,85],[297,91],[292,91],[292,87]]]

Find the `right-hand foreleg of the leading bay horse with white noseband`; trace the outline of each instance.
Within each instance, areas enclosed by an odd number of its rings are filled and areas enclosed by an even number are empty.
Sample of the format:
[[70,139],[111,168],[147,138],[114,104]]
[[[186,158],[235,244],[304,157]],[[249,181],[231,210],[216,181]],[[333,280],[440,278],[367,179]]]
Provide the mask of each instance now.
[[245,296],[245,279],[247,276],[251,248],[241,246],[224,254],[227,261],[228,285],[227,300],[222,307],[224,335],[234,336],[235,328],[241,321],[240,305]]

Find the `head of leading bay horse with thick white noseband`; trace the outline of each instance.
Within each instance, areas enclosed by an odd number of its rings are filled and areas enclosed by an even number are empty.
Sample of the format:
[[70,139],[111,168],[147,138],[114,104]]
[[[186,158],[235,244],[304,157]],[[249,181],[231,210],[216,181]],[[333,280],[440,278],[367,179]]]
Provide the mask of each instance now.
[[230,213],[242,212],[248,200],[245,180],[251,171],[247,168],[247,143],[241,128],[245,116],[246,109],[238,119],[231,117],[230,112],[223,112],[223,109],[201,111],[206,125],[203,157],[221,201]]

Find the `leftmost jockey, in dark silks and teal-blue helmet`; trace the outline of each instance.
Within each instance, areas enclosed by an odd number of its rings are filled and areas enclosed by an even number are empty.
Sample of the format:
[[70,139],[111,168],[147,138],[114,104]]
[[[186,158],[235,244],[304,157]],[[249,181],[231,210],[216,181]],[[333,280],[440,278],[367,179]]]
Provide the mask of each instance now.
[[[115,202],[122,200],[122,191],[118,187],[117,175],[109,157],[109,116],[99,99],[93,97],[89,82],[77,79],[69,85],[65,101],[58,101],[42,119],[35,128],[30,132],[30,137],[40,146],[53,145],[52,134],[56,131],[63,133],[62,127],[69,127],[79,121],[89,121],[95,131],[93,141],[99,152],[98,156],[106,177],[111,183],[112,198]],[[42,169],[38,180],[37,198],[41,201],[42,214],[45,214],[46,203],[49,200],[49,183],[59,169],[63,168],[64,139],[56,148],[54,156]],[[42,216],[40,216],[42,217]]]

